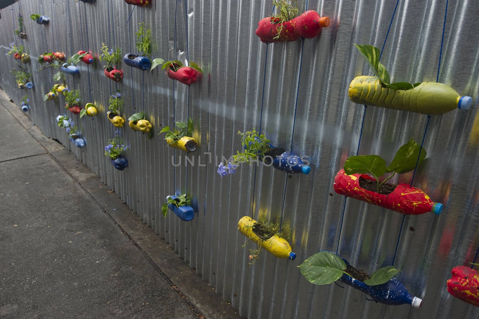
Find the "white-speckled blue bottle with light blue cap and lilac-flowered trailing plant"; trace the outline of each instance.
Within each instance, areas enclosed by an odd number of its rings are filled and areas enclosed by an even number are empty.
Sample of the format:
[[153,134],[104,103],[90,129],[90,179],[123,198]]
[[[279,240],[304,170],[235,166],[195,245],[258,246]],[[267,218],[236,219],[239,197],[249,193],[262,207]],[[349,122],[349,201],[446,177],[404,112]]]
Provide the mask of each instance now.
[[244,150],[232,156],[232,160],[225,166],[221,162],[218,166],[218,174],[225,176],[234,174],[239,164],[250,163],[253,158],[259,158],[265,165],[272,165],[274,168],[290,174],[303,173],[309,174],[311,168],[296,154],[285,151],[284,148],[275,148],[270,144],[270,140],[264,134],[253,128],[246,133],[238,132],[241,136],[241,145]]

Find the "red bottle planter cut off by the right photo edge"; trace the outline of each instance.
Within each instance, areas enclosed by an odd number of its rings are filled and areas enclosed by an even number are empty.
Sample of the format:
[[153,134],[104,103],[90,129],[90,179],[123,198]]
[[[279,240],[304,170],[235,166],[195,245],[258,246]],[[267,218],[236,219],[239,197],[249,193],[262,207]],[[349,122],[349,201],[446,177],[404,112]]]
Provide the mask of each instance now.
[[452,269],[452,278],[447,280],[447,291],[471,305],[479,307],[479,273],[466,266]]

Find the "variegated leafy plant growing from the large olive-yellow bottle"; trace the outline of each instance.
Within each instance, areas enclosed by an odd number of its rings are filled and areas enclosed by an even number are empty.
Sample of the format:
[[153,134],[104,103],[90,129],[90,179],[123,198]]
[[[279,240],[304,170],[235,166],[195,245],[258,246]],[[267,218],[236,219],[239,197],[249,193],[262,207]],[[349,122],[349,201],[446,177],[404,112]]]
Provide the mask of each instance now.
[[409,90],[413,89],[421,82],[418,83],[408,83],[408,82],[396,82],[390,83],[391,80],[389,78],[388,70],[384,65],[379,63],[379,57],[381,55],[381,51],[376,46],[370,45],[354,45],[359,50],[361,55],[366,59],[366,62],[369,66],[375,71],[376,76],[379,78],[381,86],[384,88],[390,88],[393,90]]

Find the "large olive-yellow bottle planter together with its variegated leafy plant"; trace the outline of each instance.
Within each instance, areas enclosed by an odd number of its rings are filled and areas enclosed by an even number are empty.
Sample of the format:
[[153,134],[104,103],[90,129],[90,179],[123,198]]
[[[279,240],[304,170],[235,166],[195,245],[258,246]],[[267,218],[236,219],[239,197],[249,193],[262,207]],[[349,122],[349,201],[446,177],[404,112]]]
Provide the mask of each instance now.
[[348,95],[354,103],[429,115],[444,114],[456,108],[468,110],[471,107],[470,96],[460,96],[443,83],[390,83],[386,67],[379,63],[379,49],[369,45],[354,46],[376,74],[372,77],[361,75],[351,81]]

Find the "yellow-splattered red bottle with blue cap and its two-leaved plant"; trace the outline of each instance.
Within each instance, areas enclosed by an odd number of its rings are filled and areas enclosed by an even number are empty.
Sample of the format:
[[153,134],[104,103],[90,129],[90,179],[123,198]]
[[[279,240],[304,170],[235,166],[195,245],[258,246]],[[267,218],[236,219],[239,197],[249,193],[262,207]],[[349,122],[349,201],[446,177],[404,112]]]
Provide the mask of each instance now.
[[[418,160],[419,152],[421,157]],[[413,138],[399,148],[388,167],[386,161],[377,155],[351,156],[334,179],[334,191],[405,215],[427,212],[439,215],[443,211],[443,205],[433,203],[419,188],[405,183],[386,183],[396,173],[404,174],[414,170],[416,163],[419,166],[425,157],[426,151]],[[379,177],[386,172],[392,174],[380,182]]]

